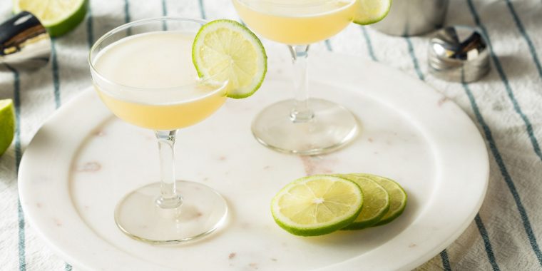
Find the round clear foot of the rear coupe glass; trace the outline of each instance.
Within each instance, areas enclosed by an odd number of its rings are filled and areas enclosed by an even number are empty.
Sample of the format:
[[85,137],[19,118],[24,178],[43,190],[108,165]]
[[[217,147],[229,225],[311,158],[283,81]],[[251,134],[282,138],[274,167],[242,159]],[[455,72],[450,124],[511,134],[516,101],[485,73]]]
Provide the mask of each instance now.
[[290,118],[294,102],[274,103],[256,116],[252,134],[260,143],[284,153],[317,155],[337,150],[357,135],[357,119],[346,108],[311,98],[309,104],[314,118],[294,123]]

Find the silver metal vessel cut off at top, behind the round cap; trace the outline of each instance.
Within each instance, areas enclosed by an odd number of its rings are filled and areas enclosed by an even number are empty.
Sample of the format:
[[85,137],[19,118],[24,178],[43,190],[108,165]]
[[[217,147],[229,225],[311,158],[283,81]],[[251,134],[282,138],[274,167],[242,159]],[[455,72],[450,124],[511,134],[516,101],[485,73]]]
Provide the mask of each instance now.
[[449,0],[394,0],[389,14],[372,28],[394,36],[416,36],[444,24]]

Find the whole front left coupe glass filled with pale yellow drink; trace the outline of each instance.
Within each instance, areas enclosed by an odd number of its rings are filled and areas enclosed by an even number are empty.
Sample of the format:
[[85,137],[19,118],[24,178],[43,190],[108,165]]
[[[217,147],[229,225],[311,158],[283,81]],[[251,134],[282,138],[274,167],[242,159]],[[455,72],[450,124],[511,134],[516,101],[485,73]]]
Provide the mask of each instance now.
[[[227,214],[227,204],[215,190],[201,183],[175,179],[173,147],[177,130],[203,121],[226,100],[227,82],[215,78],[188,76],[185,83],[171,83],[175,78],[187,77],[185,71],[194,67],[190,52],[183,58],[175,58],[183,50],[168,39],[188,36],[190,40],[185,44],[191,48],[193,37],[203,24],[205,21],[169,17],[134,21],[109,31],[91,48],[88,62],[103,103],[123,121],[153,130],[158,139],[160,182],[133,190],[115,209],[118,227],[137,240],[151,243],[194,240],[216,230]],[[145,44],[135,44],[136,41]],[[127,46],[128,43],[131,44]],[[185,47],[188,51],[188,45]],[[136,56],[126,58],[134,50]],[[181,68],[169,68],[172,65]],[[119,78],[123,76],[117,73],[124,70],[138,73],[124,74],[121,83]],[[195,75],[195,71],[192,73]]]

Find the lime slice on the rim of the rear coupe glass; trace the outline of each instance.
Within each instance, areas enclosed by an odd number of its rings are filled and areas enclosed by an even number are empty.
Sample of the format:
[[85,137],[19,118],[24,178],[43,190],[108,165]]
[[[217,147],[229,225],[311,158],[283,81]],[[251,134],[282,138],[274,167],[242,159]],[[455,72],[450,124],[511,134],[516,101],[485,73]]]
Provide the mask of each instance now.
[[362,25],[374,24],[388,15],[392,0],[358,0],[357,5],[354,23]]

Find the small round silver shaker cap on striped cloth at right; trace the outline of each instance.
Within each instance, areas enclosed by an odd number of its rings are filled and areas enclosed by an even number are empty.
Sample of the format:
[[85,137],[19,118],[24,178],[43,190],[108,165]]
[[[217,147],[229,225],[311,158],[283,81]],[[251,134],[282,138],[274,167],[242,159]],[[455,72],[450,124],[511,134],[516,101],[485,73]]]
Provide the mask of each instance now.
[[489,72],[489,48],[479,31],[448,26],[429,41],[429,71],[446,81],[472,82]]

